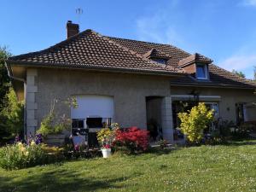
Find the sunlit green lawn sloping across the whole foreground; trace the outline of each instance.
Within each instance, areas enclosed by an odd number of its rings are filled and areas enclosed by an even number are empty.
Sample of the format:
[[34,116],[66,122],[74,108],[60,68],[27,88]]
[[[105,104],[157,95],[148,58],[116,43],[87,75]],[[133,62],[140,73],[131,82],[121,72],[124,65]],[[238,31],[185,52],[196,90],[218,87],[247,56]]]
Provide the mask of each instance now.
[[0,191],[256,191],[256,141],[0,169]]

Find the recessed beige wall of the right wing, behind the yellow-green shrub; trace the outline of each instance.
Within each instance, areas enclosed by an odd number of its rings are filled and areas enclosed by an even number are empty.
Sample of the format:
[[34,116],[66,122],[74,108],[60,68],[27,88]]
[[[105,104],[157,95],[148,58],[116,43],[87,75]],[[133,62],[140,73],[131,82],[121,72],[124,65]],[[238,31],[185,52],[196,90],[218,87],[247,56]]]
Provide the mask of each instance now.
[[[200,96],[221,96],[218,102],[219,117],[236,122],[236,102],[256,102],[254,90],[223,88],[199,88],[172,86],[172,95],[189,95],[192,91]],[[256,109],[249,111],[250,119],[256,120]]]

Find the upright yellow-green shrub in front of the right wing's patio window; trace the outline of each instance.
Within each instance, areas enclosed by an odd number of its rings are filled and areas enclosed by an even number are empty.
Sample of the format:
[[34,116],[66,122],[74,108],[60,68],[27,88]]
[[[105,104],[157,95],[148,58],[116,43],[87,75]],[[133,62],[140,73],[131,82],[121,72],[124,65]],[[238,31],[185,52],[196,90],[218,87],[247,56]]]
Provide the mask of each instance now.
[[203,130],[213,120],[213,110],[207,109],[205,103],[200,102],[188,113],[178,113],[181,120],[180,129],[187,136],[189,142],[200,142],[203,137]]

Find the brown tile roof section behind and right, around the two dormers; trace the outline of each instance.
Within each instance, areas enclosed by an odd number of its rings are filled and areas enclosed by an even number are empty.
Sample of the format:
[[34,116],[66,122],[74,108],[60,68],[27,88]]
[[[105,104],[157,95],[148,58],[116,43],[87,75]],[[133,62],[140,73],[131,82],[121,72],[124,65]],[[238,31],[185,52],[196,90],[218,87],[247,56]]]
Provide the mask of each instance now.
[[[183,61],[188,59],[189,60],[195,59],[197,61],[203,61],[207,63],[211,63],[212,60],[207,58],[204,55],[195,54],[191,55],[188,52],[178,49],[170,44],[154,44],[149,42],[131,40],[131,39],[124,39],[124,38],[111,38],[114,41],[118,42],[119,44],[124,45],[125,47],[136,51],[137,53],[144,55],[150,49],[157,49],[160,50],[162,53],[166,55],[170,55],[171,58],[167,61],[167,65],[172,67],[179,67],[179,61]],[[203,80],[196,80],[189,75],[185,75],[179,77],[177,79],[172,80],[172,84],[181,84],[181,85],[195,85],[195,86],[221,86],[221,87],[237,87],[237,88],[253,88],[256,89],[256,84],[253,81],[248,79],[241,79],[234,73],[231,73],[223,68],[220,68],[214,64],[209,64],[209,73],[210,73],[210,80],[203,81]]]

